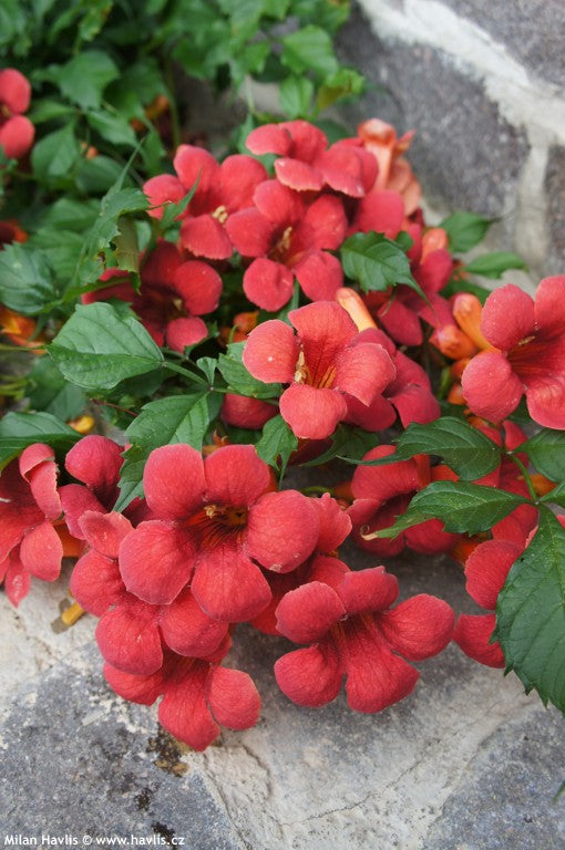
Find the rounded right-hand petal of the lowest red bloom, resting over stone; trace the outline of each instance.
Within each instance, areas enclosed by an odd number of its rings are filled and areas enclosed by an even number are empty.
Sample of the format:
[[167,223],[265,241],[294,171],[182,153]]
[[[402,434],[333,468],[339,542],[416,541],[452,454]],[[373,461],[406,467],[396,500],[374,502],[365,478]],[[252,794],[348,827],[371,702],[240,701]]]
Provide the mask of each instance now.
[[253,678],[240,670],[210,667],[207,681],[213,716],[228,729],[248,729],[259,719],[261,701]]

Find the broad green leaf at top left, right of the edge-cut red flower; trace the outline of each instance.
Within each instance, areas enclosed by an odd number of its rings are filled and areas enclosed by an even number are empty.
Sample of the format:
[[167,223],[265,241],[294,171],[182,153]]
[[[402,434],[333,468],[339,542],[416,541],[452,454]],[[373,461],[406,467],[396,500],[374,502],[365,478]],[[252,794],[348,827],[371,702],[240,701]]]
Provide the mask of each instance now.
[[73,103],[84,110],[97,110],[104,89],[120,76],[120,71],[107,53],[85,50],[64,65],[47,69],[45,75]]

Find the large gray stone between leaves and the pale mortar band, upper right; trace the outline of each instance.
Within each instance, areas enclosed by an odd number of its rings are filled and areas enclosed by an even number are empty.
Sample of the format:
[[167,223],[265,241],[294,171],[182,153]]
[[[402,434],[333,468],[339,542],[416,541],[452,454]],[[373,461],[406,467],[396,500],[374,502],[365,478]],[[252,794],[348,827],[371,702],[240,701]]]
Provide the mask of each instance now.
[[399,132],[415,128],[410,160],[428,200],[504,216],[510,232],[528,145],[482,84],[441,51],[379,41],[359,9],[339,35],[339,50],[377,86],[351,107],[349,120],[376,115]]

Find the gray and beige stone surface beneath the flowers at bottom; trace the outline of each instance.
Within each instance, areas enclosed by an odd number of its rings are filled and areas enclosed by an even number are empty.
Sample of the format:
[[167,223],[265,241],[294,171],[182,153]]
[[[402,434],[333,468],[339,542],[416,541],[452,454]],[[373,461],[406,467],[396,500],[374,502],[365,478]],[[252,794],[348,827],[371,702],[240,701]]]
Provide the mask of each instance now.
[[[394,572],[403,595],[428,590],[469,608],[453,561],[407,556]],[[0,694],[6,835],[185,838],[191,850],[563,847],[565,800],[552,805],[562,719],[456,646],[419,665],[412,697],[371,716],[343,695],[321,709],[291,704],[273,677],[289,644],[239,628],[228,663],[257,682],[261,719],[196,754],[160,733],[154,708],[105,687],[91,619],[52,633],[63,588],[35,585],[8,616],[0,600],[4,666],[19,645],[21,675]]]

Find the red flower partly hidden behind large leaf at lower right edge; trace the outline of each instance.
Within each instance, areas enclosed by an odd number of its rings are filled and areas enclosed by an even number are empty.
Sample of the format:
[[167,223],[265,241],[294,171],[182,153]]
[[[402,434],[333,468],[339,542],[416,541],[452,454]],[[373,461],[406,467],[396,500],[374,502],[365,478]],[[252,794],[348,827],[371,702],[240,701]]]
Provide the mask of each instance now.
[[[508,540],[485,540],[465,562],[466,592],[482,608],[496,609],[510,568],[522,554],[524,547]],[[492,614],[461,614],[453,640],[470,659],[490,667],[503,667],[504,655],[497,642],[491,643],[496,616]]]

